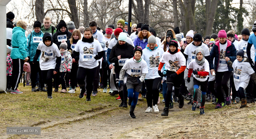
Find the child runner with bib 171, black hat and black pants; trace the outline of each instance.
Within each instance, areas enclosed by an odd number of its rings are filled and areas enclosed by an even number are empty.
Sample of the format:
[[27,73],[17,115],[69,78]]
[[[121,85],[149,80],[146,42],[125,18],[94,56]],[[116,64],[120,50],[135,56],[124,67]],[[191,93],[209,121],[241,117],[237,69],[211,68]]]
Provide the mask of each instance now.
[[53,43],[51,34],[48,32],[44,33],[43,42],[38,44],[36,54],[32,61],[33,64],[35,64],[39,56],[43,81],[44,83],[47,83],[47,95],[48,98],[52,99],[53,74],[57,74],[59,71],[61,57],[58,46]]

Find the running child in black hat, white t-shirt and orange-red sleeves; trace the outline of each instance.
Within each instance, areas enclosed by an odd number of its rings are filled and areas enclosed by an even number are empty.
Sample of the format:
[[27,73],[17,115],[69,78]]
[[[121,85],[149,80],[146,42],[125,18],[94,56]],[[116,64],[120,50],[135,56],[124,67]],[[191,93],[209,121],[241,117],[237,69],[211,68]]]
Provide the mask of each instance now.
[[184,77],[184,70],[186,68],[186,59],[178,49],[178,40],[172,38],[169,41],[169,48],[163,53],[160,64],[158,67],[158,74],[163,77],[161,69],[165,63],[166,71],[166,83],[167,83],[167,93],[165,97],[165,107],[163,109],[162,116],[168,116],[169,113],[169,103],[172,97],[172,87],[174,86],[174,94],[179,97],[179,108],[184,106],[184,96],[180,93],[181,83]]

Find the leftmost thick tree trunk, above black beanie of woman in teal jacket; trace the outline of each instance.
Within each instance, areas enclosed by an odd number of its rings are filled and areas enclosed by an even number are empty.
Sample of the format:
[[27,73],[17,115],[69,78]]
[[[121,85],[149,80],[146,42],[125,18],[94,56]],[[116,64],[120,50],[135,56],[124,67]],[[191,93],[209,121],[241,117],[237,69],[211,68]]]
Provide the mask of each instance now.
[[43,23],[44,19],[44,0],[35,1],[35,16],[36,20]]

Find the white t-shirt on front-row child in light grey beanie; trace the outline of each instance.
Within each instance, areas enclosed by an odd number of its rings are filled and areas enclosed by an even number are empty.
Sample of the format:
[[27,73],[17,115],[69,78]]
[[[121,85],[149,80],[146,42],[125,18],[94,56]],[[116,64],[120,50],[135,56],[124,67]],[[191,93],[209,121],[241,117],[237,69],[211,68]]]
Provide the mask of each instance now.
[[[198,65],[196,60],[193,60],[189,63],[188,69],[193,69],[195,71],[206,71],[208,73],[210,72],[209,62],[207,60],[204,61],[202,66]],[[193,74],[193,77],[198,81],[206,81],[209,76],[199,76]]]

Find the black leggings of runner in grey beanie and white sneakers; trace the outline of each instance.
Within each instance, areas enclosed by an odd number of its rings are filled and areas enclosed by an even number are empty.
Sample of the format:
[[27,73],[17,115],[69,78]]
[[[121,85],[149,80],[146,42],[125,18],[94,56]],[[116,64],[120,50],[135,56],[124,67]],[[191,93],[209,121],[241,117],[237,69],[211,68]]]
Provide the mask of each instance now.
[[145,84],[147,88],[146,99],[147,99],[148,107],[152,108],[152,98],[153,98],[153,106],[157,104],[161,81],[162,81],[161,77],[155,78],[155,79],[145,79]]

